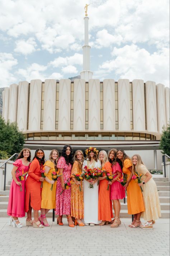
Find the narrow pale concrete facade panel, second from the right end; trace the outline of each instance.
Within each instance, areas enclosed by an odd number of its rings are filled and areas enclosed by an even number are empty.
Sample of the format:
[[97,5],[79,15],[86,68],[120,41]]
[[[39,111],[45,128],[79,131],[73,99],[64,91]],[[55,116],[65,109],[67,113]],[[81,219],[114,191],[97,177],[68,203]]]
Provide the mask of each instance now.
[[158,132],[162,132],[162,126],[166,126],[166,111],[165,111],[165,87],[163,84],[156,85],[157,98],[157,126]]

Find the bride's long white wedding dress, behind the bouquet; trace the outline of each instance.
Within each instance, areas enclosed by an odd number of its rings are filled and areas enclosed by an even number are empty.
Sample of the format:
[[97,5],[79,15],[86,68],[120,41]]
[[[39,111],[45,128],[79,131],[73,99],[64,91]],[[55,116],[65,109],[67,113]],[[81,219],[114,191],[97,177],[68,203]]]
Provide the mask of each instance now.
[[[83,162],[83,167],[87,165],[87,160]],[[89,164],[88,168],[100,167],[100,161]],[[89,188],[89,181],[84,179],[83,191],[84,191],[84,222],[99,224],[98,220],[98,197],[99,197],[99,186],[96,182],[93,189]]]

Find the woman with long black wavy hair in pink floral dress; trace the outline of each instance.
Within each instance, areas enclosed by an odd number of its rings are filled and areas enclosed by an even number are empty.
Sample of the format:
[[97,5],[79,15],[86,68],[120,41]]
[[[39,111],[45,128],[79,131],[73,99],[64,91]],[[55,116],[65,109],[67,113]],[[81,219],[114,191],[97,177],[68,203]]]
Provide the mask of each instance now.
[[[57,181],[55,213],[58,215],[57,224],[63,225],[62,216],[65,214],[67,216],[69,226],[74,228],[74,224],[71,218],[71,187],[69,189],[65,189],[64,187],[64,184],[67,181],[70,181],[72,164],[72,147],[70,145],[65,145],[57,163],[59,174],[63,175],[61,175],[60,179]],[[60,194],[62,190],[64,191],[62,194]]]

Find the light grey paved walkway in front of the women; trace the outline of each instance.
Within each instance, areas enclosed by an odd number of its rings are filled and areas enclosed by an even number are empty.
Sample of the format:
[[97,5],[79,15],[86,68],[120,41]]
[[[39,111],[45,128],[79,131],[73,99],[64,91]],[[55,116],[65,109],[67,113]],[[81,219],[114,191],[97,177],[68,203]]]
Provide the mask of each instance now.
[[[116,229],[108,226],[69,228],[66,218],[59,226],[48,218],[50,227],[13,228],[0,218],[0,255],[3,256],[163,256],[169,255],[169,220],[160,219],[153,230],[128,227],[122,219]],[[143,221],[142,221],[143,222]]]

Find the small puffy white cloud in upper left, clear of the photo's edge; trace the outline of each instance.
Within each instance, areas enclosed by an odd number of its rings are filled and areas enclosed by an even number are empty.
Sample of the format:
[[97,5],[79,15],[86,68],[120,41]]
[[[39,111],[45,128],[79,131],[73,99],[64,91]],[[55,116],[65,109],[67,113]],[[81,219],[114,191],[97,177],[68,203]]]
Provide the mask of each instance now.
[[24,55],[28,55],[36,51],[36,41],[34,38],[30,37],[27,41],[25,40],[18,40],[15,42],[16,47],[14,52],[22,53]]

